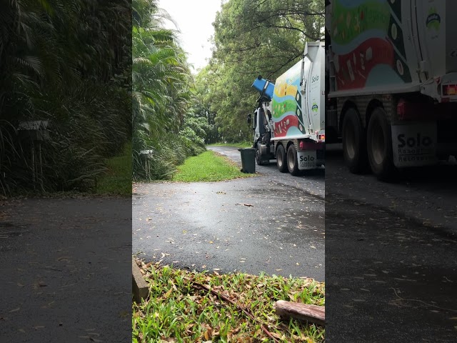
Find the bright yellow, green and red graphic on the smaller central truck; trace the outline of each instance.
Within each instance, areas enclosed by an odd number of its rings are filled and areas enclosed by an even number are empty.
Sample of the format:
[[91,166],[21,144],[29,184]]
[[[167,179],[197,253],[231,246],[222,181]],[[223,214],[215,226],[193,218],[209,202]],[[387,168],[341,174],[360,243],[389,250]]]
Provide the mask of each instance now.
[[301,134],[305,133],[299,91],[300,76],[301,61],[276,79],[271,102],[273,112],[271,119],[273,120],[275,137],[286,136],[289,129],[299,131]]

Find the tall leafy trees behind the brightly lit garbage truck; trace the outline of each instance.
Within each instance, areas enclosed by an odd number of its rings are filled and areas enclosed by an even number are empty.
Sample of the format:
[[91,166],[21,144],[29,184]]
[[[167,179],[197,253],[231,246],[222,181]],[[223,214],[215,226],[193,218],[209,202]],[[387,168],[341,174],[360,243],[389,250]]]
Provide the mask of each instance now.
[[214,22],[214,55],[197,76],[199,94],[221,141],[250,141],[246,116],[256,106],[256,77],[274,81],[298,61],[305,41],[323,39],[318,0],[229,0]]

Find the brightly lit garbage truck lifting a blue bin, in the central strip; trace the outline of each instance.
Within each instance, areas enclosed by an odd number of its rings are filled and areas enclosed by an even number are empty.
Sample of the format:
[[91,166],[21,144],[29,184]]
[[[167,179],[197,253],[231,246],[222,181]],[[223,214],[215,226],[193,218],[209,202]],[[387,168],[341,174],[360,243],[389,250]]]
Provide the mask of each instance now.
[[276,159],[280,172],[303,174],[325,165],[325,44],[306,42],[303,58],[275,83],[262,79],[252,87],[260,95],[253,119],[256,163]]

